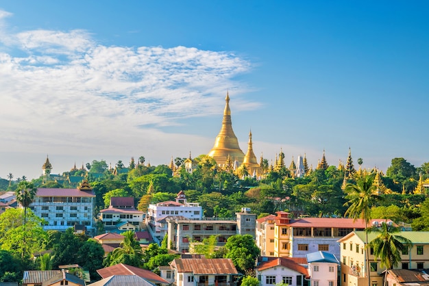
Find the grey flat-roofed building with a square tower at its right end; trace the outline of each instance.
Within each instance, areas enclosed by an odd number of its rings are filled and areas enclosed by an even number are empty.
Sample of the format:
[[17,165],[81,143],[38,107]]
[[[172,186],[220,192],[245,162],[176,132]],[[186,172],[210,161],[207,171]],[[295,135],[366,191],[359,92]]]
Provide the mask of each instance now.
[[255,237],[256,214],[243,208],[235,219],[207,218],[202,220],[168,218],[167,246],[179,252],[189,252],[192,242],[202,242],[210,235],[217,236],[217,246],[225,245],[232,235],[252,235]]

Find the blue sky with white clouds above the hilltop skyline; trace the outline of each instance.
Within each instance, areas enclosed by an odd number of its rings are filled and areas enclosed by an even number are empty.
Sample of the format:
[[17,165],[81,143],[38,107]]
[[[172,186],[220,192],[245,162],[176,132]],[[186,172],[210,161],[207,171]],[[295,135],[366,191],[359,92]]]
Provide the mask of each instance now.
[[0,177],[247,151],[429,161],[428,1],[0,0]]

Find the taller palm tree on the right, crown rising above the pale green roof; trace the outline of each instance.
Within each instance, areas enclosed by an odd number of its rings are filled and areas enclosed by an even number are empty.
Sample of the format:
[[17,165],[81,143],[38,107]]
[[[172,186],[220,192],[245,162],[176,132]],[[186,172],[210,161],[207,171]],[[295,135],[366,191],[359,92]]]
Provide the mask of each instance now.
[[[367,229],[371,220],[371,207],[375,203],[378,195],[375,192],[376,186],[373,185],[372,177],[366,176],[358,179],[356,184],[347,183],[344,192],[347,193],[345,198],[348,200],[344,206],[347,207],[344,215],[353,218],[356,221],[358,218],[365,221],[365,229]],[[368,243],[368,233],[366,233],[365,244]],[[369,272],[369,254],[366,252],[365,273],[368,277],[368,286],[371,286],[371,278]]]

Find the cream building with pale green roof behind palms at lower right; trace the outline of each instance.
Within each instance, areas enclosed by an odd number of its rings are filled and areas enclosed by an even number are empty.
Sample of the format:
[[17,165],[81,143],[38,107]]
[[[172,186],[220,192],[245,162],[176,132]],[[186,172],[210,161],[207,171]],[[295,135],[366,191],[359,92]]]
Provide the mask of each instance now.
[[[380,225],[380,222],[373,225]],[[368,242],[371,242],[376,233],[368,234]],[[410,250],[402,252],[402,262],[395,269],[424,269],[429,267],[429,231],[402,231],[397,233],[409,239],[413,246]],[[384,268],[380,266],[380,259],[377,261],[369,250],[369,268],[365,263],[368,248],[366,247],[365,231],[354,231],[339,239],[341,245],[341,283],[342,285],[368,285],[367,274],[370,275],[372,286],[383,285]]]

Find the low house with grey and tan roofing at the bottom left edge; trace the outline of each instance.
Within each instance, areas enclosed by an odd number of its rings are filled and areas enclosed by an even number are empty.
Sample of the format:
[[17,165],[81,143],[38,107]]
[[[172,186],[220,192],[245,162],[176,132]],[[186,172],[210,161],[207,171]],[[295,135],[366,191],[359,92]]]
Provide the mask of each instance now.
[[85,281],[64,270],[24,271],[23,286],[70,285],[84,286]]

